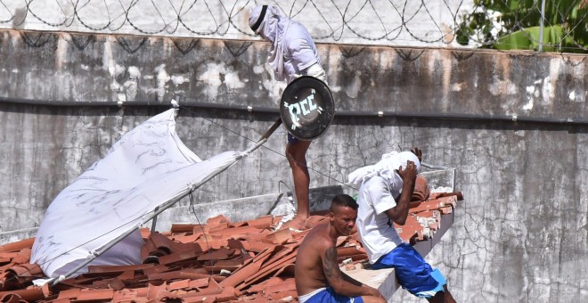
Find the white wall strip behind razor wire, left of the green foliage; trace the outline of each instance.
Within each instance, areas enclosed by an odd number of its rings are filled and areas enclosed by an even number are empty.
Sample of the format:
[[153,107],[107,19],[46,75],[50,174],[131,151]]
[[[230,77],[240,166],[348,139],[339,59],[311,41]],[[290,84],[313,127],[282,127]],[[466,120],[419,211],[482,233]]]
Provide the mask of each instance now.
[[471,0],[0,0],[0,28],[254,38],[249,10],[274,4],[322,42],[448,44]]

